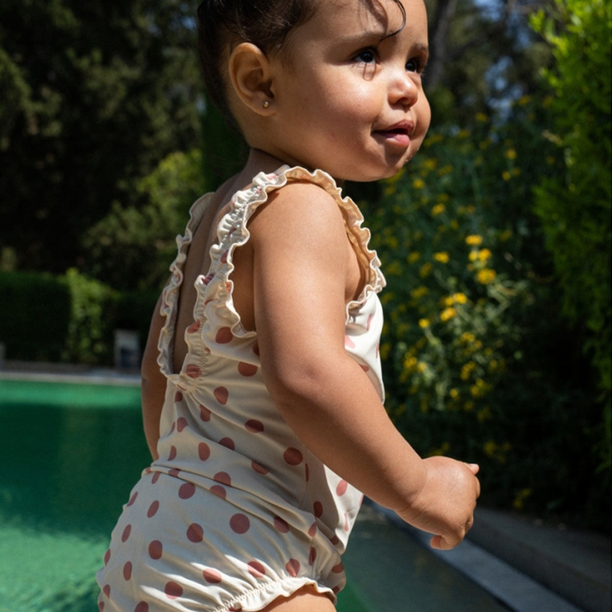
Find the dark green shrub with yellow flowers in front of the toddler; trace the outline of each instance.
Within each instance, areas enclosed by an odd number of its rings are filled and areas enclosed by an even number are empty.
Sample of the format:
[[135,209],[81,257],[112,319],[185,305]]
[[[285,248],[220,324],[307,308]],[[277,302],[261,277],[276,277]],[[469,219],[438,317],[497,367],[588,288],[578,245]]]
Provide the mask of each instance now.
[[584,451],[601,416],[530,212],[532,185],[561,165],[548,105],[524,97],[501,127],[480,113],[430,134],[364,204],[388,283],[386,405],[419,452],[480,463],[485,501],[602,526],[609,487]]

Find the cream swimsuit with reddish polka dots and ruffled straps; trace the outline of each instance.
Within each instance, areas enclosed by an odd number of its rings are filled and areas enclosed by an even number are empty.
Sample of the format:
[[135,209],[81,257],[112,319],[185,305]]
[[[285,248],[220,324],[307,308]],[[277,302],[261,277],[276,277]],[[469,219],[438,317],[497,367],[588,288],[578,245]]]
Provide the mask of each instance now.
[[[248,241],[247,223],[268,194],[310,181],[334,197],[365,272],[346,307],[346,351],[383,399],[378,341],[384,286],[368,250],[362,215],[329,174],[283,166],[237,192],[218,225],[209,274],[197,278],[188,353],[171,369],[182,268],[212,194],[193,204],[171,278],[163,291],[165,326],[158,363],[167,378],[160,458],[133,488],[97,574],[106,612],[261,610],[312,584],[335,600],[345,584],[340,554],[362,494],[300,442],[261,376],[256,332],[242,327],[232,300],[232,257]],[[302,321],[300,324],[307,324]]]

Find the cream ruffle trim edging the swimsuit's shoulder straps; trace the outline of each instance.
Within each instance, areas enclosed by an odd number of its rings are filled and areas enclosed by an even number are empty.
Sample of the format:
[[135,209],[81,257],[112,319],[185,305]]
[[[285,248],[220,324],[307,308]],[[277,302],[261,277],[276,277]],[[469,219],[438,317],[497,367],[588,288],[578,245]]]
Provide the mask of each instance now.
[[[230,202],[230,210],[223,215],[217,226],[217,244],[212,245],[210,250],[211,266],[209,272],[206,276],[200,275],[196,279],[198,298],[194,308],[194,318],[203,316],[204,308],[209,303],[214,302],[215,307],[206,311],[206,319],[213,328],[229,327],[232,335],[239,338],[256,336],[255,332],[244,329],[240,315],[234,308],[233,282],[230,278],[234,271],[233,253],[236,248],[241,247],[248,241],[250,231],[247,224],[256,209],[267,202],[269,193],[284,187],[291,181],[312,182],[329,193],[345,215],[347,231],[349,236],[353,237],[351,242],[354,246],[359,247],[360,265],[365,265],[367,278],[359,297],[346,305],[346,322],[348,323],[351,312],[365,304],[372,291],[378,293],[386,285],[383,273],[380,270],[381,262],[376,252],[368,248],[370,231],[362,227],[364,217],[357,204],[348,196],[343,198],[341,189],[334,179],[323,170],[310,172],[302,166],[290,167],[285,165],[271,174],[263,172],[257,174],[247,189],[234,194]],[[211,198],[212,193],[207,193],[191,207],[185,235],[176,238],[178,254],[170,266],[171,277],[162,293],[160,313],[165,317],[165,324],[162,327],[157,344],[159,349],[157,363],[168,378],[181,376],[180,374],[173,374],[170,367],[177,316],[176,305],[184,278],[183,266],[187,258],[187,251],[192,242],[195,228],[198,226],[204,214],[204,209],[206,209]],[[219,312],[223,313],[222,316],[217,315]],[[198,335],[198,338],[201,338],[201,336]],[[193,342],[198,341],[196,338],[186,334],[185,339],[190,353],[192,353],[192,350],[195,353],[201,352],[193,346]]]

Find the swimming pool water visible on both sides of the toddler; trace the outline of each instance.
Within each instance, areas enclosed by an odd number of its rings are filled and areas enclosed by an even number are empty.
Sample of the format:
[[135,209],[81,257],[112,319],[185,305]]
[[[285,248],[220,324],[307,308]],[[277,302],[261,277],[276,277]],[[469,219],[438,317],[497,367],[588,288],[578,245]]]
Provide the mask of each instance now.
[[[137,386],[0,378],[0,612],[93,612],[95,572],[150,458]],[[338,612],[507,608],[381,515],[360,513]]]

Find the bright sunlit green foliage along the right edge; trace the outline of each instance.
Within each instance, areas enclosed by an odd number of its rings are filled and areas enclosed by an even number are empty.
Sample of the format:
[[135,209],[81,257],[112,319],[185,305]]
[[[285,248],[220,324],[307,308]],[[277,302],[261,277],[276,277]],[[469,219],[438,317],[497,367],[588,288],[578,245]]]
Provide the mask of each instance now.
[[549,138],[564,172],[535,190],[546,245],[563,290],[564,313],[586,338],[584,348],[599,372],[605,403],[602,446],[610,468],[610,32],[606,0],[555,0],[533,28],[551,45],[554,65],[545,77],[554,91]]

